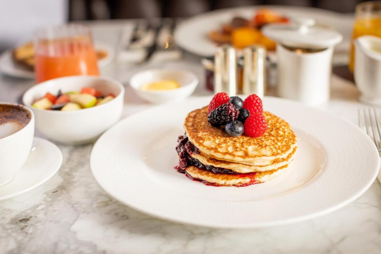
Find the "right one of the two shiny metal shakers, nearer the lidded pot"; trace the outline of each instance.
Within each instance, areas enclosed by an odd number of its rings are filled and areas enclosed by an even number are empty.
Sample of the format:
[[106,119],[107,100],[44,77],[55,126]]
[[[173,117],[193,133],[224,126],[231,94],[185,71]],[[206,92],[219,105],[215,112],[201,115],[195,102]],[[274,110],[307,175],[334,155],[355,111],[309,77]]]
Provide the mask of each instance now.
[[265,47],[253,45],[243,49],[243,95],[255,93],[260,98],[263,98],[266,85],[265,68]]

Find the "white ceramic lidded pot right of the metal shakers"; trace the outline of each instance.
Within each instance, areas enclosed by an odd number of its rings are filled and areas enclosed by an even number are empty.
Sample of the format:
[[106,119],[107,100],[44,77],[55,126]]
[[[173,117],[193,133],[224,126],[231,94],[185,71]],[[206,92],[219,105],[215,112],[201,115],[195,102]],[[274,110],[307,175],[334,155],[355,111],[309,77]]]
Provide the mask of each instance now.
[[327,102],[333,48],[343,36],[315,26],[311,18],[293,19],[291,24],[269,24],[262,32],[277,42],[278,95],[309,106]]

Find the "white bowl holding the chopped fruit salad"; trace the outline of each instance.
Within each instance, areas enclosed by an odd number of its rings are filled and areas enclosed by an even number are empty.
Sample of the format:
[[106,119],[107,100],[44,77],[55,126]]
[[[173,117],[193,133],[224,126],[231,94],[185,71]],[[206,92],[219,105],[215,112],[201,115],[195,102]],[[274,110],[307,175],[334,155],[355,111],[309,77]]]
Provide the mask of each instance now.
[[[37,109],[32,104],[46,92],[56,95],[94,87],[102,94],[114,93],[113,100],[92,108],[75,111]],[[122,116],[123,85],[114,79],[96,76],[70,76],[51,79],[29,88],[22,96],[23,103],[32,109],[36,128],[46,137],[70,145],[90,143]]]

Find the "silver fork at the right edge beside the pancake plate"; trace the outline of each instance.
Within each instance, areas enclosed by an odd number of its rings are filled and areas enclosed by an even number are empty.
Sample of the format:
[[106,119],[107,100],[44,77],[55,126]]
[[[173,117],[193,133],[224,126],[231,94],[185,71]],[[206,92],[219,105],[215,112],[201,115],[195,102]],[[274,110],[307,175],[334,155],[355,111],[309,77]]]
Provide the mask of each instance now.
[[[370,108],[359,108],[358,114],[360,129],[364,130],[365,127],[365,132],[368,134],[371,140],[373,140],[373,143],[375,143],[378,153],[381,156],[381,125],[377,116],[376,109],[373,108],[373,110],[371,110]],[[381,172],[378,173],[377,178],[381,183]]]

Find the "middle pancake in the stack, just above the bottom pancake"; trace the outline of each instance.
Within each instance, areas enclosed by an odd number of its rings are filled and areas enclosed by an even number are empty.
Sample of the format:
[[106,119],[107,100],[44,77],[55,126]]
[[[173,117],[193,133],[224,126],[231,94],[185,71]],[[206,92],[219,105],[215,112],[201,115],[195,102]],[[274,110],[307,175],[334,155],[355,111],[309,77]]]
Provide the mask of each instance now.
[[251,166],[251,165],[246,165],[242,163],[235,163],[235,162],[230,162],[230,161],[220,161],[215,158],[208,157],[204,153],[191,153],[189,154],[192,158],[195,158],[199,160],[202,164],[204,165],[209,165],[209,166],[214,166],[214,167],[220,167],[224,169],[231,169],[237,173],[245,174],[245,173],[250,173],[250,172],[262,172],[262,171],[267,171],[267,170],[273,170],[277,169],[279,167],[285,166],[289,164],[291,161],[293,161],[296,151],[298,150],[298,147],[295,146],[293,151],[288,154],[286,158],[283,159],[275,159],[271,161],[269,165],[266,166]]

